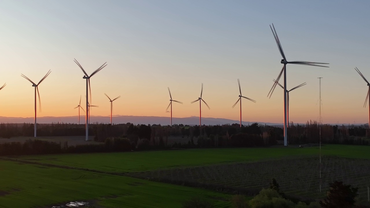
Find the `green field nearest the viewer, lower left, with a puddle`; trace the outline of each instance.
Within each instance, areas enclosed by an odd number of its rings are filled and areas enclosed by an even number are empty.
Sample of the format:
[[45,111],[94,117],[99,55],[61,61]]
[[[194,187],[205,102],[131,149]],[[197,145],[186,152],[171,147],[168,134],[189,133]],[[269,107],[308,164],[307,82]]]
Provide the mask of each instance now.
[[95,207],[181,207],[202,195],[229,207],[230,195],[136,178],[0,160],[0,207],[45,207],[88,201]]

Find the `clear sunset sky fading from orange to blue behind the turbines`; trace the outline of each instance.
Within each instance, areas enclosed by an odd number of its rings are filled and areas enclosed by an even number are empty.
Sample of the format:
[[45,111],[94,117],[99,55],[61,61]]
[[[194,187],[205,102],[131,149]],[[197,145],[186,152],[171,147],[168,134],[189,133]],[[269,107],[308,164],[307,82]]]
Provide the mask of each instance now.
[[[363,108],[370,80],[369,1],[14,1],[0,2],[0,116],[33,117],[34,88],[40,84],[38,116],[78,115],[85,106],[83,72],[104,62],[91,78],[91,115],[199,116],[200,96],[211,110],[203,117],[283,123],[283,90],[267,97],[282,68],[269,24],[274,23],[288,61],[330,63],[330,68],[287,66],[293,122],[318,120],[322,79],[324,123],[367,123]],[[283,79],[280,80],[283,84]],[[85,108],[85,107],[84,107]],[[1,121],[0,121],[1,122]]]

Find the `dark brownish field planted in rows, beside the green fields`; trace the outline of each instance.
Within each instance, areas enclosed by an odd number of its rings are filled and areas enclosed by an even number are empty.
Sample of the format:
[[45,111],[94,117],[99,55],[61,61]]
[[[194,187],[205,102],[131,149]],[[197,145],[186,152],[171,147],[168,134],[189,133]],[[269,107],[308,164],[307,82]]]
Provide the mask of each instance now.
[[267,188],[276,178],[280,190],[287,194],[305,197],[323,197],[329,183],[335,180],[359,188],[361,201],[367,200],[370,185],[370,160],[336,156],[322,157],[322,192],[319,192],[320,164],[316,157],[290,157],[258,162],[219,164],[203,167],[158,169],[136,172],[142,178],[192,181],[205,184],[222,184],[240,188]]

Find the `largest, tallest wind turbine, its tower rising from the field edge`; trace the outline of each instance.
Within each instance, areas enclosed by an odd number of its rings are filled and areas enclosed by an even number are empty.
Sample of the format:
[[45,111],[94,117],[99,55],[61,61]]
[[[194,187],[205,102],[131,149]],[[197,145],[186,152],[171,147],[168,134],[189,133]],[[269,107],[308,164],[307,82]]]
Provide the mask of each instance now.
[[[280,61],[280,63],[284,64],[284,66],[283,66],[282,70],[280,71],[280,74],[277,77],[276,82],[279,82],[279,79],[280,79],[282,73],[284,72],[284,146],[287,146],[288,132],[287,132],[287,128],[286,128],[287,127],[286,64],[301,64],[301,65],[307,65],[307,66],[327,67],[327,66],[321,66],[321,65],[317,65],[317,64],[328,64],[328,63],[318,63],[318,62],[309,62],[309,61],[287,61],[286,57],[285,57],[285,54],[284,54],[284,51],[283,51],[283,48],[280,44],[279,37],[277,37],[277,33],[276,33],[276,30],[275,30],[274,24],[272,24],[272,27],[270,25],[270,28],[271,28],[272,34],[275,37],[277,48],[279,48],[279,51],[280,51],[280,55],[283,57],[283,59]],[[272,30],[272,28],[274,28],[274,29]],[[270,92],[275,89],[276,82],[273,84]],[[267,96],[269,96],[269,95],[267,95]]]

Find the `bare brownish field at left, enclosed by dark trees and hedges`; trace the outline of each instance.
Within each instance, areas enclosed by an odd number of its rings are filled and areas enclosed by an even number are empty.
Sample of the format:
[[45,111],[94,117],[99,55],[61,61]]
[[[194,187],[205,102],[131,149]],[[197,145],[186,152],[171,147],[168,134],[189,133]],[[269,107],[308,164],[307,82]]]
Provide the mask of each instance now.
[[[1,143],[8,143],[8,142],[25,142],[26,140],[34,140],[34,137],[11,137],[10,139],[7,138],[0,138]],[[38,140],[50,141],[50,142],[61,142],[62,145],[65,141],[68,141],[68,145],[82,145],[82,144],[100,144],[100,142],[95,141],[85,141],[85,136],[73,136],[73,137],[37,137]],[[93,140],[94,136],[89,136],[89,140]]]

